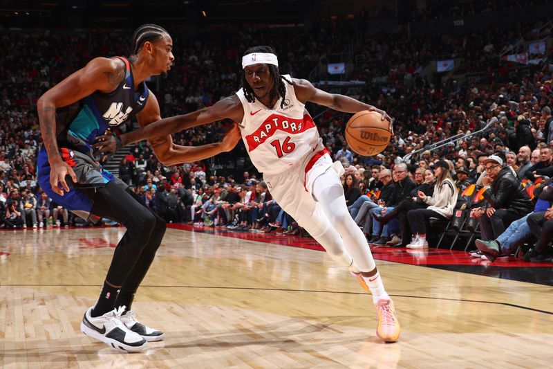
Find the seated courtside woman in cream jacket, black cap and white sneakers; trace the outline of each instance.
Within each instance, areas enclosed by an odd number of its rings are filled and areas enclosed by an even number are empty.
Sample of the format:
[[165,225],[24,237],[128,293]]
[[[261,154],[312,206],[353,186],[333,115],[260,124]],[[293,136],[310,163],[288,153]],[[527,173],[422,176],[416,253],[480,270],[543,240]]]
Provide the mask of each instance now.
[[433,166],[436,183],[432,196],[418,191],[417,197],[421,199],[428,208],[409,210],[407,220],[413,231],[413,242],[407,244],[409,249],[427,249],[427,226],[426,221],[431,218],[449,219],[453,215],[453,208],[457,203],[457,188],[449,173],[449,163],[444,160],[436,162]]

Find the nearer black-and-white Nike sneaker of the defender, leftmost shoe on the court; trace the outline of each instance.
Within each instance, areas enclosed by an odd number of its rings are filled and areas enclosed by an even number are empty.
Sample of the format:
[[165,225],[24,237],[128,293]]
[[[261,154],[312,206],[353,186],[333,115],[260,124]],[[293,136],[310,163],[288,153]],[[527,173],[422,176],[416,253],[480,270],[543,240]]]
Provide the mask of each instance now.
[[120,320],[124,306],[96,318],[91,316],[92,309],[93,307],[90,307],[86,310],[82,317],[81,332],[86,336],[126,352],[138,352],[146,347],[147,341],[140,334],[125,327]]

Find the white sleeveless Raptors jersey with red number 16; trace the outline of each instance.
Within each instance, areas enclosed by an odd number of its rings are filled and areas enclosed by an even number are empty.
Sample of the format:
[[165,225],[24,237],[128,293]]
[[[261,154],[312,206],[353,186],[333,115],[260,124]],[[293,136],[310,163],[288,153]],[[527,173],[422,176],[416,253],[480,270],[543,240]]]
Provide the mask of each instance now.
[[[292,81],[290,75],[284,75]],[[236,92],[244,108],[238,125],[250,159],[259,172],[279,173],[295,163],[302,163],[324,149],[317,127],[305,105],[297,100],[294,86],[284,81],[286,95],[272,109],[257,99],[248,102],[243,89]]]

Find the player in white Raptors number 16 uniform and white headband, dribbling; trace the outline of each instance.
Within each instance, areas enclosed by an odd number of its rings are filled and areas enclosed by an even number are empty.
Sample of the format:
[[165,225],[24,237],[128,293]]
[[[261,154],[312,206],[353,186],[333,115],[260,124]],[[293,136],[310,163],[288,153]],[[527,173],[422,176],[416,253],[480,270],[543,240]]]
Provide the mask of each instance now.
[[[247,152],[257,170],[263,172],[274,199],[373,294],[377,336],[386,342],[397,341],[400,323],[393,302],[384,290],[366,238],[346,207],[340,181],[344,168],[339,162],[332,163],[305,104],[315,102],[347,113],[373,110],[383,119],[389,117],[348,96],[327,93],[306,80],[281,75],[277,55],[268,46],[247,50],[242,66],[243,87],[236,95],[123,134],[118,137],[118,147],[225,118],[237,122]],[[238,129],[234,134],[238,135]],[[100,145],[113,150],[115,140],[105,139]]]

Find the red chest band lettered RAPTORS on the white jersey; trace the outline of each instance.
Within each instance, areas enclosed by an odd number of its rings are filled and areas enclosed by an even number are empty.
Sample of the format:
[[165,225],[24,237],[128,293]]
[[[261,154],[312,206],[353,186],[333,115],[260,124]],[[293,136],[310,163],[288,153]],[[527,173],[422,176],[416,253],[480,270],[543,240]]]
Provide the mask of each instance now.
[[303,119],[294,119],[272,114],[259,125],[259,128],[256,129],[255,132],[246,136],[247,150],[255,150],[279,130],[288,134],[299,134],[306,132],[310,128],[315,128],[315,123],[309,114],[304,114]]

